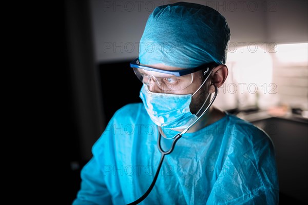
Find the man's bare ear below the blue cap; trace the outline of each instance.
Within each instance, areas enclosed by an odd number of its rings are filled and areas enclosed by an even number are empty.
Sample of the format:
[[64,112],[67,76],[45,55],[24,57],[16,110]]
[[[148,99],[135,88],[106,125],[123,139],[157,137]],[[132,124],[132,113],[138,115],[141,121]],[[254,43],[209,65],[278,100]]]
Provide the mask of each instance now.
[[[224,81],[228,76],[228,68],[226,65],[219,65],[215,67],[211,73],[211,83],[215,84],[217,88],[223,85]],[[215,87],[213,85],[209,86],[209,93],[214,93]]]

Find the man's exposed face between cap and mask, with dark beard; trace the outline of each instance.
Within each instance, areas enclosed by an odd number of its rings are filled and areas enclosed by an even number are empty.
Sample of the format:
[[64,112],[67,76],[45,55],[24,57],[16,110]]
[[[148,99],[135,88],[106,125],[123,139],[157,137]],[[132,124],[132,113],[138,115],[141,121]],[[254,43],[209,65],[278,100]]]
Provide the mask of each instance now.
[[[183,69],[183,68],[165,66],[163,64],[145,65],[145,66],[163,69],[163,70],[170,70],[170,71]],[[195,73],[188,74],[189,76],[187,75],[186,77],[189,79],[192,78],[192,81],[189,84],[189,86],[187,86],[183,90],[172,89],[171,86],[169,86],[170,89],[162,90],[161,88],[159,88],[159,86],[155,84],[155,82],[150,77],[145,77],[143,79],[143,83],[150,84],[150,86],[148,86],[148,89],[151,92],[169,93],[169,94],[177,94],[177,95],[194,94],[200,88],[200,86],[202,85],[204,81],[204,77],[202,76],[202,74],[203,74],[202,71],[197,71]],[[184,78],[183,80],[185,80],[185,75],[183,76],[183,78]],[[207,82],[200,88],[200,90],[194,96],[192,96],[191,103],[189,105],[189,108],[192,114],[196,114],[199,111],[199,109],[202,107],[202,105],[204,104],[204,101],[208,95],[209,81],[210,80],[208,79]]]

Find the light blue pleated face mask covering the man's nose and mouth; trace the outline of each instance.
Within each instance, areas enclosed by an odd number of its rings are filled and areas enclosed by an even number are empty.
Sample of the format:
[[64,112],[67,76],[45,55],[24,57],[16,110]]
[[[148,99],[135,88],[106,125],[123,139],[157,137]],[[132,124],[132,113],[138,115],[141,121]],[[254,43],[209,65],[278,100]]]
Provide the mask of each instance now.
[[192,94],[153,93],[145,85],[140,91],[140,98],[152,121],[168,129],[185,129],[198,118],[190,112],[191,97]]

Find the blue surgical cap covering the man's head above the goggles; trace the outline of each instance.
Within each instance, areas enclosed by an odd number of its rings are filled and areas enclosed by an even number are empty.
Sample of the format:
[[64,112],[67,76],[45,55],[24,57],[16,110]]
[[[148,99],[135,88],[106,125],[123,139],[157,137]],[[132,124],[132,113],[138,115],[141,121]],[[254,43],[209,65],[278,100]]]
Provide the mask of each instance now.
[[187,2],[163,5],[148,17],[139,60],[178,68],[225,64],[229,39],[226,19],[215,9]]

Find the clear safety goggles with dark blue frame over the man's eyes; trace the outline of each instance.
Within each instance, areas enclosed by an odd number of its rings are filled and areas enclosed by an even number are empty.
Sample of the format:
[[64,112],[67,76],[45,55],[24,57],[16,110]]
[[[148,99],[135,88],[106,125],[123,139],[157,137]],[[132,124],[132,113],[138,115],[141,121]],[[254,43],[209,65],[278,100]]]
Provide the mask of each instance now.
[[187,88],[194,80],[192,73],[204,69],[204,75],[208,74],[218,64],[215,62],[203,64],[196,68],[182,70],[163,70],[141,66],[139,58],[131,61],[130,67],[144,84],[155,84],[163,91],[180,91]]

